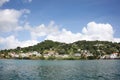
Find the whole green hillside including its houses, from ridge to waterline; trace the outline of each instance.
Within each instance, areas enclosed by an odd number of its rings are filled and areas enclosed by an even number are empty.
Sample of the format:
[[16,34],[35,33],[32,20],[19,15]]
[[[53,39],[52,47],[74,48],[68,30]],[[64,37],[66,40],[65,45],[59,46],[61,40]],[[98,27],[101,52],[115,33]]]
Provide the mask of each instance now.
[[[22,54],[24,54],[24,56]],[[113,55],[113,58],[119,58],[120,43],[107,41],[77,41],[66,44],[45,40],[34,46],[25,48],[17,47],[16,49],[0,51],[0,58],[101,59],[111,58],[111,55]]]

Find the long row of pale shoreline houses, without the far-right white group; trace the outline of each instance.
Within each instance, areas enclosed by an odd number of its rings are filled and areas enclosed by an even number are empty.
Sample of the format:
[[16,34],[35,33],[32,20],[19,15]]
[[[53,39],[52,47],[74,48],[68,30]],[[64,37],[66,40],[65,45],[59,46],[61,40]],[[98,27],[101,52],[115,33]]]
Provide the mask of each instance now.
[[[21,52],[21,53],[18,53],[18,54],[16,54],[15,52],[10,52],[10,53],[8,53],[8,55],[11,58],[30,58],[30,57],[41,57],[41,56],[43,56],[44,58],[49,58],[51,56],[54,56],[55,58],[69,58],[71,56],[69,54],[59,54],[55,51],[48,51],[47,53],[44,53],[44,54],[40,54],[37,51],[28,52],[28,53],[22,53]],[[87,51],[85,51],[84,54],[75,53],[72,56],[81,57],[81,55],[84,55],[86,57],[93,56],[91,53],[88,53]]]

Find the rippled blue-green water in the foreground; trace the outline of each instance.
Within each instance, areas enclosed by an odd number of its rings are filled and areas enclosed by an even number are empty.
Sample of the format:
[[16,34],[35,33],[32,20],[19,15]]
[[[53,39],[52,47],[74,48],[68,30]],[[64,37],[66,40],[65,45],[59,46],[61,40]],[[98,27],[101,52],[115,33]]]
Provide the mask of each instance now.
[[120,80],[120,60],[0,60],[0,80]]

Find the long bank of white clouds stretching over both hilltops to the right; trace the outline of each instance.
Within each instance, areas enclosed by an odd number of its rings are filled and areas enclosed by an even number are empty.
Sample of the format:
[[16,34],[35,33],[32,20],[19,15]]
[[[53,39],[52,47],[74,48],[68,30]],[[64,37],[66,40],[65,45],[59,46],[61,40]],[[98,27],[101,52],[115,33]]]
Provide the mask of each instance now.
[[35,40],[42,36],[45,39],[72,43],[78,40],[100,40],[100,41],[118,41],[114,38],[114,30],[110,24],[89,22],[86,27],[83,27],[82,33],[72,33],[66,29],[58,29],[53,21],[48,26],[41,24],[35,28],[27,26],[31,32],[32,39]]

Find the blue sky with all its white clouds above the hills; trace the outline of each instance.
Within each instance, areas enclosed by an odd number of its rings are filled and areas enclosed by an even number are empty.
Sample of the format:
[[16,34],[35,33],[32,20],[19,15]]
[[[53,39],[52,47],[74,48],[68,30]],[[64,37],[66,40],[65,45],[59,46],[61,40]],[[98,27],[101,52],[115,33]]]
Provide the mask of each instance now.
[[0,50],[44,40],[120,42],[120,0],[0,0]]

